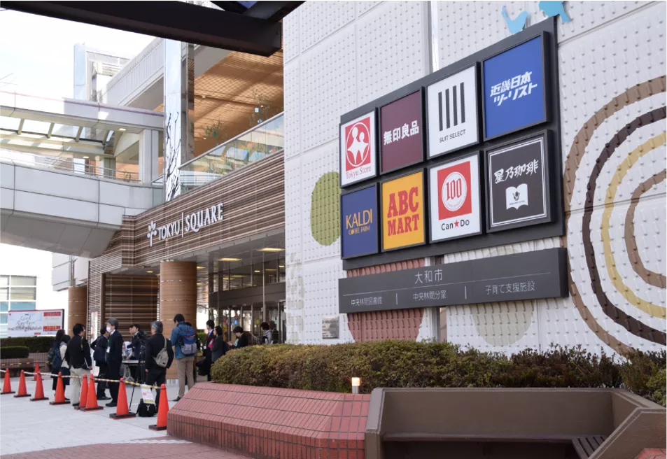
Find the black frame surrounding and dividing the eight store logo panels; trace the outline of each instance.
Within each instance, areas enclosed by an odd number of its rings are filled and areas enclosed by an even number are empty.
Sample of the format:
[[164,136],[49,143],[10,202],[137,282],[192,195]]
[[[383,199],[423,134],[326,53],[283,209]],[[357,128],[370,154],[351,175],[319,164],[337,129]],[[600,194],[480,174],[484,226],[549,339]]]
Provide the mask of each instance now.
[[[379,117],[377,113],[377,108],[384,106],[389,102],[398,99],[401,95],[410,94],[419,88],[428,87],[433,83],[437,83],[443,78],[463,71],[472,65],[477,66],[477,102],[478,102],[478,129],[482,131],[478,132],[479,142],[468,146],[465,148],[458,149],[453,152],[449,152],[446,155],[440,155],[437,157],[429,158],[428,150],[426,151],[426,159],[421,164],[415,164],[411,167],[406,167],[400,169],[400,171],[393,171],[386,174],[379,174],[379,159],[377,160],[378,164],[378,174],[374,178],[369,178],[364,181],[359,181],[344,187],[344,191],[356,190],[358,188],[365,188],[371,183],[381,183],[382,181],[391,180],[397,178],[403,174],[409,174],[410,172],[416,171],[417,169],[428,169],[433,164],[440,164],[442,160],[446,157],[447,160],[458,160],[461,157],[465,157],[472,153],[473,150],[487,150],[490,148],[496,148],[497,146],[502,145],[503,143],[508,143],[516,139],[521,138],[522,136],[534,136],[539,132],[545,130],[549,131],[552,135],[552,143],[549,146],[552,155],[550,161],[552,164],[552,177],[556,178],[553,183],[553,199],[552,199],[552,221],[547,223],[542,223],[540,225],[530,225],[525,227],[517,227],[511,231],[497,231],[497,232],[483,232],[477,236],[468,236],[461,239],[446,240],[435,243],[426,243],[420,246],[414,246],[409,248],[402,248],[401,250],[391,250],[379,251],[379,253],[374,255],[366,255],[360,257],[354,257],[343,261],[343,269],[359,269],[363,267],[377,266],[380,264],[388,264],[395,262],[402,262],[405,260],[415,260],[424,257],[433,257],[446,255],[448,253],[457,253],[464,252],[467,250],[478,250],[480,248],[488,248],[493,246],[502,246],[512,243],[520,243],[524,241],[533,241],[537,239],[547,239],[554,236],[562,236],[565,234],[565,211],[563,204],[563,181],[562,181],[562,154],[561,154],[561,113],[560,113],[560,104],[559,104],[559,78],[558,78],[558,52],[557,52],[557,35],[556,35],[556,20],[557,17],[547,17],[547,19],[538,22],[528,29],[508,36],[507,38],[494,43],[485,48],[475,52],[474,54],[465,57],[454,64],[451,64],[443,69],[430,73],[419,80],[416,80],[405,87],[401,87],[394,92],[379,97],[374,101],[370,101],[367,104],[360,106],[349,113],[345,113],[341,116],[341,124],[349,122],[355,118],[358,118],[360,115],[370,112],[371,110],[376,110],[376,116]],[[512,134],[503,134],[502,137],[497,137],[494,139],[484,139],[484,110],[482,107],[482,99],[484,94],[480,89],[482,85],[482,62],[485,59],[493,55],[497,55],[504,50],[509,50],[521,45],[531,38],[542,34],[542,46],[544,50],[543,54],[543,63],[544,63],[544,76],[545,76],[545,97],[548,99],[546,110],[547,110],[547,121],[542,122],[540,125],[535,125],[532,127],[524,127],[519,132],[514,132]],[[426,95],[425,95],[426,97]],[[378,119],[378,118],[376,118]],[[376,133],[376,142],[379,142],[379,125],[377,122],[377,133]],[[428,120],[424,120],[424,125],[426,127],[425,135],[423,141],[426,142],[426,148],[428,148]],[[376,147],[377,155],[379,155],[379,146]],[[481,157],[482,163],[480,164],[480,169],[485,170],[486,168],[486,158],[484,155]],[[425,172],[426,178],[426,172]],[[424,185],[425,189],[428,188],[428,180]],[[486,179],[482,178],[482,195],[486,196]],[[427,193],[428,195],[428,193]],[[430,206],[428,205],[428,196],[426,196],[427,205],[425,208],[425,213],[428,218],[428,213],[430,211]],[[486,206],[486,202],[484,202]],[[483,215],[486,215],[486,209],[482,212]],[[381,216],[382,217],[382,216]],[[380,221],[382,223],[382,221]],[[427,232],[428,232],[427,228]],[[380,229],[381,230],[381,229]],[[428,241],[428,239],[427,239]]]

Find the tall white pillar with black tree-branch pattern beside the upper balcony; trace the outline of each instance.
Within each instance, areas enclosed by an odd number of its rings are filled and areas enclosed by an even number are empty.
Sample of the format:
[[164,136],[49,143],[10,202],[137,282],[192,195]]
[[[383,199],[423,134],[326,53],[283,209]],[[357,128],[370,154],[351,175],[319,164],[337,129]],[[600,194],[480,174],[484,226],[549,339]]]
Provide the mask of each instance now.
[[181,194],[181,164],[195,157],[195,46],[164,40],[164,200]]

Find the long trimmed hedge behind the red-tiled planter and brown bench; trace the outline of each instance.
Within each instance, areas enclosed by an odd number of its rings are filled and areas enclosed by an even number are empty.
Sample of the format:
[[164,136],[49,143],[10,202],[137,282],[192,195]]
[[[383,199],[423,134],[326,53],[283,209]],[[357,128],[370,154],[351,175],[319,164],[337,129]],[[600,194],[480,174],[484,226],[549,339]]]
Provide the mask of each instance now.
[[522,351],[507,357],[447,343],[378,341],[334,346],[250,346],[212,368],[218,383],[349,393],[377,387],[628,388],[667,406],[667,353],[626,360],[581,347]]

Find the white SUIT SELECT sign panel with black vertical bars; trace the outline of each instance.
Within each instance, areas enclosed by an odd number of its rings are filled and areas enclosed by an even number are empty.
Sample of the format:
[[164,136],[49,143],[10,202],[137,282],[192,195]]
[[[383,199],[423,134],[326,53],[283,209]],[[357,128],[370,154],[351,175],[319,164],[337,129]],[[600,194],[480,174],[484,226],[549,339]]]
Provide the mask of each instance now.
[[428,157],[479,141],[475,66],[433,83],[428,100]]

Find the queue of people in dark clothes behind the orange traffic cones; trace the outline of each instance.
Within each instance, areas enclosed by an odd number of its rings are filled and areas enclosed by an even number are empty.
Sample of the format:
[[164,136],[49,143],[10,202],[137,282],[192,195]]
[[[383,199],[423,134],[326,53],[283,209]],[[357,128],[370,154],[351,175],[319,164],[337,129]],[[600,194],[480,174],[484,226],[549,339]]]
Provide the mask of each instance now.
[[[125,346],[122,334],[118,330],[118,319],[108,319],[106,326],[99,330],[99,336],[89,346],[85,338],[85,326],[77,323],[72,327],[72,336],[65,330],[58,330],[55,341],[48,354],[50,372],[54,375],[76,376],[63,378],[64,386],[71,386],[71,400],[73,407],[78,406],[81,390],[81,377],[94,374],[98,379],[110,379],[120,381],[121,367],[129,360],[136,363],[137,372],[145,374],[137,375],[136,380],[149,386],[161,386],[167,381],[167,369],[171,367],[174,360],[178,372],[178,396],[174,400],[178,402],[185,395],[185,386],[188,390],[195,386],[197,373],[207,376],[211,381],[211,366],[231,349],[244,348],[255,344],[277,344],[279,333],[276,324],[271,321],[262,323],[262,335],[255,337],[251,332],[246,332],[242,327],[234,327],[232,333],[235,341],[227,342],[220,325],[215,325],[213,320],[206,322],[206,341],[203,343],[203,360],[196,363],[197,353],[200,348],[197,331],[189,322],[185,321],[183,314],[174,316],[174,328],[171,330],[171,339],[164,337],[164,325],[160,320],[150,324],[150,337],[141,331],[138,324],[129,327],[132,341]],[[125,358],[124,358],[125,356]],[[52,376],[52,388],[57,388],[57,376]],[[106,407],[116,407],[118,403],[118,383],[106,383],[99,381],[97,384],[97,400],[111,400]],[[106,389],[111,397],[106,396]],[[69,401],[70,399],[66,399]],[[157,390],[155,398],[155,411],[160,400],[160,390]]]

